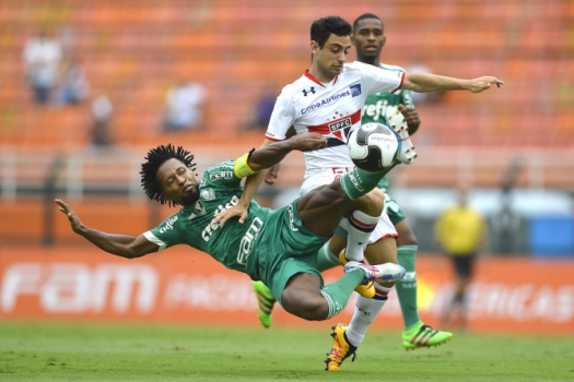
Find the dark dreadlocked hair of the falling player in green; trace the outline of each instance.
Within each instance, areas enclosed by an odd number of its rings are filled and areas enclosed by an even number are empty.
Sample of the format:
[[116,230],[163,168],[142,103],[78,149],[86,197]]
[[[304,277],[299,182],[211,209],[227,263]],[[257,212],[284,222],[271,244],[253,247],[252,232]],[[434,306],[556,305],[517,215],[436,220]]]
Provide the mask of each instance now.
[[143,187],[143,191],[145,191],[148,198],[161,204],[167,203],[169,206],[175,206],[177,203],[168,201],[162,195],[162,186],[157,180],[160,166],[162,166],[165,160],[172,158],[181,160],[191,171],[196,170],[194,155],[181,146],[178,146],[176,151],[175,146],[172,146],[169,143],[167,146],[161,145],[148,152],[148,156],[145,157],[147,162],[141,165],[140,175],[141,187]]

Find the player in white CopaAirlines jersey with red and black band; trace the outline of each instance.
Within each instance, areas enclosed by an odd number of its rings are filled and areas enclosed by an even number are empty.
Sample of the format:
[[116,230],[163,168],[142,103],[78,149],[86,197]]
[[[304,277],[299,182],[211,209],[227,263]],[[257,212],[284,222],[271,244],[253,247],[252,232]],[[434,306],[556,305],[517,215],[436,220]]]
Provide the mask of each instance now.
[[[347,139],[361,124],[362,107],[368,95],[395,92],[399,88],[419,93],[456,89],[480,93],[490,88],[492,84],[499,87],[503,84],[494,76],[462,80],[427,73],[388,71],[362,62],[345,63],[351,49],[351,25],[339,16],[323,17],[312,24],[311,67],[298,80],[283,88],[261,145],[267,146],[304,132],[317,132],[326,138],[327,147],[305,153],[306,170],[301,194],[331,182],[354,167],[349,157]],[[250,177],[239,203],[220,214],[216,219],[225,222],[238,216],[239,222],[245,220],[248,214],[247,206],[266,176],[266,171],[260,171]],[[341,260],[362,261],[364,252],[370,263],[397,263],[397,232],[388,216],[368,214],[370,206],[373,205],[370,194],[358,199],[355,203],[361,206],[361,211],[351,213],[342,220],[342,227],[348,231],[348,243],[344,255],[347,259]],[[372,211],[376,208],[373,206]],[[320,270],[320,264],[318,267]],[[378,310],[383,308],[386,295],[393,286],[394,283],[376,285],[375,299],[378,300]],[[366,305],[372,302],[371,299],[365,301]],[[272,306],[272,296],[269,302]],[[358,303],[356,309],[362,308]],[[270,307],[263,315],[265,313],[269,313],[267,315],[270,317]],[[260,311],[259,317],[261,315]],[[341,362],[354,354],[363,339],[370,322],[356,322],[354,326],[353,323],[354,320],[344,336],[341,335],[340,341],[336,341],[339,348],[329,355],[327,370],[338,370]],[[353,338],[348,337],[349,333],[353,333]]]

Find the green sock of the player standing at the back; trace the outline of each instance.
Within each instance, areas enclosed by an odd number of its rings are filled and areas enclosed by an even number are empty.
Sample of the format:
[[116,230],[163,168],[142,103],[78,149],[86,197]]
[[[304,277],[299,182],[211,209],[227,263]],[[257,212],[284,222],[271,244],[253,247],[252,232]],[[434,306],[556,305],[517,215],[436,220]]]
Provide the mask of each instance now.
[[395,284],[405,327],[409,327],[420,321],[419,307],[417,305],[417,246],[401,246],[397,249],[399,264],[407,271],[407,275]]

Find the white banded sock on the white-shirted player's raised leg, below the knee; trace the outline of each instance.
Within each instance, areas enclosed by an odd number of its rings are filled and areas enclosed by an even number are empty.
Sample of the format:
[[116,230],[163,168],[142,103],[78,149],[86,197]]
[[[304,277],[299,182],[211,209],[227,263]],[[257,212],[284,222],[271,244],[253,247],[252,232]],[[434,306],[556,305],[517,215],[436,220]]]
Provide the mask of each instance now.
[[349,261],[363,261],[363,252],[371,234],[375,230],[378,216],[371,216],[362,211],[353,211],[348,218],[347,251],[344,256]]

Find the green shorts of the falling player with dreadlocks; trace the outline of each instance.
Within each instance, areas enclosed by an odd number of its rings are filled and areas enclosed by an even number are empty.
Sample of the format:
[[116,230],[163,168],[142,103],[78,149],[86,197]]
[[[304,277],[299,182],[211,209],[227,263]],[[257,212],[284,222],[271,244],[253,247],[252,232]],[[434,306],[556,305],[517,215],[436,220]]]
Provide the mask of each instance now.
[[317,270],[317,253],[329,238],[317,236],[303,226],[297,201],[270,214],[253,253],[255,256],[249,259],[251,278],[263,282],[281,306],[283,289],[297,273],[315,274],[321,287],[324,285]]

